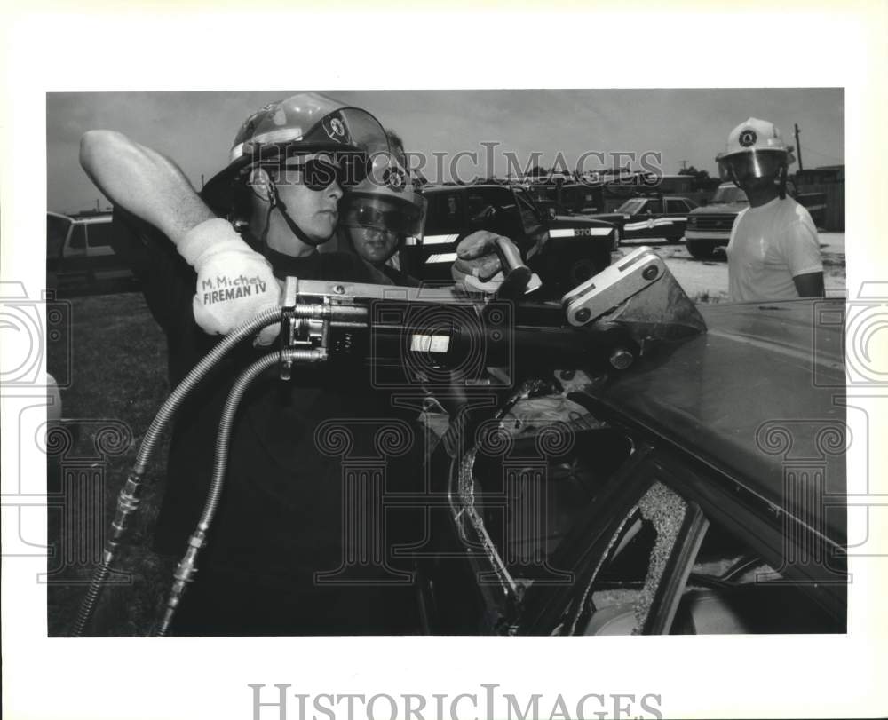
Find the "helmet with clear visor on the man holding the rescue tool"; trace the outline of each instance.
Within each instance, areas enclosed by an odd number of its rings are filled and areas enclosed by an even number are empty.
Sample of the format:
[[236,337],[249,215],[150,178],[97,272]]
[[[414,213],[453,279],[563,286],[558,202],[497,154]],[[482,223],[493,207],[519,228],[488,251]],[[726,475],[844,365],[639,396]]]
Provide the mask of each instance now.
[[230,162],[204,186],[203,199],[227,209],[242,192],[243,179],[259,163],[277,163],[294,154],[325,152],[350,163],[359,182],[370,155],[388,152],[388,138],[373,115],[318,92],[301,92],[269,103],[248,117],[234,137]]

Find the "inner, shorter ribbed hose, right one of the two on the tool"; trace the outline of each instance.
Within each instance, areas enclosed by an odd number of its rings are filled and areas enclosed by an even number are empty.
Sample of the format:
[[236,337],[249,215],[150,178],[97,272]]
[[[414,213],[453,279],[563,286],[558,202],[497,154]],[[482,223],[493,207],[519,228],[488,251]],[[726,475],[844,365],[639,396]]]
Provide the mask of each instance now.
[[234,426],[234,415],[241,403],[244,392],[256,378],[267,368],[271,368],[279,361],[290,362],[317,362],[326,358],[326,352],[322,349],[313,350],[284,350],[283,352],[270,352],[266,356],[256,360],[249,368],[243,371],[232,386],[228,394],[222,417],[219,420],[219,431],[216,436],[216,458],[213,465],[213,475],[210,481],[210,492],[203,506],[201,519],[194,530],[194,534],[188,539],[188,549],[181,559],[173,574],[174,581],[167,598],[167,604],[163,612],[163,618],[153,633],[156,637],[164,637],[169,633],[173,617],[176,614],[178,604],[181,602],[188,582],[197,572],[197,556],[200,554],[206,542],[207,532],[216,515],[219,498],[222,495],[222,487],[225,482],[228,464],[228,446],[231,440],[231,431]]

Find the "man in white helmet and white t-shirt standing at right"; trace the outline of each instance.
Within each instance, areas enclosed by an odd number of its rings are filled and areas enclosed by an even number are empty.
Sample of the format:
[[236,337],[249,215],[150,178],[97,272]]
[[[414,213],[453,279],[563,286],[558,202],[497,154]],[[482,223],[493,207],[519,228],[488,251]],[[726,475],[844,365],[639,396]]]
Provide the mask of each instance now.
[[811,216],[786,194],[793,162],[777,126],[750,117],[716,158],[723,179],[749,198],[734,220],[727,246],[733,301],[823,297],[823,263]]

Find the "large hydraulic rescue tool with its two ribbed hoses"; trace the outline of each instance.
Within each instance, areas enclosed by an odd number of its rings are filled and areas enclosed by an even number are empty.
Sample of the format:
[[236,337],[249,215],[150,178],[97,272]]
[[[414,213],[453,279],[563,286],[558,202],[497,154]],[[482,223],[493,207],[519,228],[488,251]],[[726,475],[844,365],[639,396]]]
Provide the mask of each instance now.
[[158,635],[170,628],[218,506],[237,407],[250,383],[268,368],[278,366],[282,380],[300,365],[328,363],[352,373],[364,368],[369,382],[379,388],[510,388],[556,369],[626,372],[646,354],[706,329],[694,303],[651,249],[623,257],[560,303],[535,302],[538,279],[518,258],[499,252],[505,275],[493,295],[467,284],[402,288],[288,278],[282,308],[266,311],[226,336],[172,392],[148,428],[73,634],[82,635],[91,620],[131,515],[138,510],[141,480],[164,427],[210,368],[268,325],[281,323],[280,349],[254,362],[234,383],[219,423],[210,495],[176,570]]

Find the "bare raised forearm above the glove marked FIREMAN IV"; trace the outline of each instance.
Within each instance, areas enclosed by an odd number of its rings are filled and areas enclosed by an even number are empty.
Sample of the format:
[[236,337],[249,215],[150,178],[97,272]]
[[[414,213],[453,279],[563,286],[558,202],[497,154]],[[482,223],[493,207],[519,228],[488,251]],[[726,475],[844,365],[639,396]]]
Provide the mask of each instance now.
[[80,141],[80,164],[113,204],[146,220],[178,242],[215,218],[175,162],[110,130],[91,130]]

